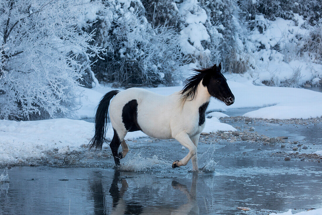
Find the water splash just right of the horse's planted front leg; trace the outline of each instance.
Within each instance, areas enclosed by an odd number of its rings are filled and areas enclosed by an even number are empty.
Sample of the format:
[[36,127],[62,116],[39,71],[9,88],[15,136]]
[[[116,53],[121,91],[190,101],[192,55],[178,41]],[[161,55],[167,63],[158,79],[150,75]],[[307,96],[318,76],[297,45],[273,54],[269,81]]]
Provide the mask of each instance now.
[[201,155],[198,156],[199,170],[202,172],[214,172],[217,162],[215,162],[215,144],[211,143],[209,148]]

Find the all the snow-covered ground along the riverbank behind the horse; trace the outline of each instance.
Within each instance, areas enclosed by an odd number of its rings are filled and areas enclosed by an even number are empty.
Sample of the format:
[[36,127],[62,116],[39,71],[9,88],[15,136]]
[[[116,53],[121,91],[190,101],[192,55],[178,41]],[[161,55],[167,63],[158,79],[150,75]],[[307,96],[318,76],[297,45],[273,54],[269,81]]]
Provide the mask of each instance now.
[[[307,89],[287,87],[255,86],[245,77],[226,75],[228,84],[235,95],[235,103],[225,106],[222,102],[212,99],[207,109],[208,114],[204,132],[218,130],[234,131],[231,125],[221,123],[218,118],[231,108],[259,107],[258,110],[245,113],[253,118],[311,118],[322,115],[322,93]],[[83,105],[77,112],[78,118],[92,118],[95,108],[104,95],[111,90],[109,87],[81,88],[84,97],[80,98]],[[169,95],[181,90],[181,87],[156,87],[149,90]],[[218,118],[216,118],[218,117]],[[83,120],[49,119],[39,121],[9,121],[0,120],[0,164],[24,162],[24,159],[41,159],[43,152],[53,148],[69,146],[71,150],[82,144],[88,144],[93,136],[94,124]],[[111,127],[107,138],[111,139]],[[146,137],[141,132],[129,132],[126,139]]]

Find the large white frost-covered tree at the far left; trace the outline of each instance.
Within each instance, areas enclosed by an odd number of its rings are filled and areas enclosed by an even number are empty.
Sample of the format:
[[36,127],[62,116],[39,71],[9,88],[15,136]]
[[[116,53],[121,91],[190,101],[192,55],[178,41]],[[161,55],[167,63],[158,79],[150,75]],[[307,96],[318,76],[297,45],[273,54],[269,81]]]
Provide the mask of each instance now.
[[[0,2],[0,118],[69,116],[78,108],[78,79],[100,52],[93,32],[98,2],[2,0]],[[82,56],[82,57],[80,57]]]

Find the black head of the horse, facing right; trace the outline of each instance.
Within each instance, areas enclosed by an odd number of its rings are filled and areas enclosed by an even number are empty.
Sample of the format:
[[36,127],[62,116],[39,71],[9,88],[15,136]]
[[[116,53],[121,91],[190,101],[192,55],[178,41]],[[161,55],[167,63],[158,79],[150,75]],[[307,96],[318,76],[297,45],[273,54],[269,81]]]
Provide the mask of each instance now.
[[227,80],[220,72],[221,63],[217,67],[216,64],[210,69],[204,76],[202,84],[207,87],[211,96],[223,101],[226,105],[232,105],[235,101],[235,97],[232,91],[228,87]]

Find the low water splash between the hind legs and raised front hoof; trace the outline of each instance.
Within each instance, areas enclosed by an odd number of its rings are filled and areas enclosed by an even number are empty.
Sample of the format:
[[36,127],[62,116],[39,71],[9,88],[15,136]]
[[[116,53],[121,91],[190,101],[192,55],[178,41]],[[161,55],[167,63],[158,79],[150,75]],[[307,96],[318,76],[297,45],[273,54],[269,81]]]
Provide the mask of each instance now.
[[125,172],[146,172],[156,169],[165,169],[172,164],[172,162],[170,163],[157,155],[154,155],[152,158],[142,157],[140,152],[133,153],[131,156],[122,159],[122,161],[122,165],[119,169]]

